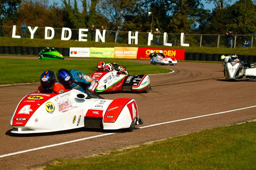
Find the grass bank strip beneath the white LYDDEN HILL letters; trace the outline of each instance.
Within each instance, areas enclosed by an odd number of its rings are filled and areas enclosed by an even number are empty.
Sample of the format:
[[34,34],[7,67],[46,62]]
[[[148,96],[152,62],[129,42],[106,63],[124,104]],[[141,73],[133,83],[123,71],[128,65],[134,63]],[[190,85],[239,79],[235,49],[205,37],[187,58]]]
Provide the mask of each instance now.
[[225,47],[182,47],[182,46],[147,46],[147,45],[129,45],[119,43],[97,43],[92,41],[78,42],[74,40],[62,41],[59,39],[45,40],[45,39],[30,39],[30,38],[7,38],[0,37],[0,46],[31,46],[31,47],[152,47],[152,48],[171,48],[171,49],[185,49],[186,52],[201,52],[201,53],[218,53],[218,54],[232,54],[239,55],[256,55],[256,48],[225,48]]

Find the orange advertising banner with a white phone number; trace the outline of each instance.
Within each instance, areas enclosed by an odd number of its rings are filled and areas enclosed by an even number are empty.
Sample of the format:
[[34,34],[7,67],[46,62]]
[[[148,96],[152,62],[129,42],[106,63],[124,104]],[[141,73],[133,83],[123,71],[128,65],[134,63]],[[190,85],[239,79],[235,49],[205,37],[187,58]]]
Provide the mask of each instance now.
[[115,47],[114,58],[137,58],[138,47]]

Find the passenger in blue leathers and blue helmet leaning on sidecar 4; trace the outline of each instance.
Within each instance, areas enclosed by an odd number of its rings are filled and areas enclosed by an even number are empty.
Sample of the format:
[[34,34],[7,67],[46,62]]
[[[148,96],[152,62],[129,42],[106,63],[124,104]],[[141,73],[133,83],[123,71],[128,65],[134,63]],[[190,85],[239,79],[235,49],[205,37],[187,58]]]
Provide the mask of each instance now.
[[66,89],[76,89],[88,94],[91,98],[103,99],[95,92],[98,85],[97,80],[81,71],[59,69],[59,71],[57,71],[57,78]]

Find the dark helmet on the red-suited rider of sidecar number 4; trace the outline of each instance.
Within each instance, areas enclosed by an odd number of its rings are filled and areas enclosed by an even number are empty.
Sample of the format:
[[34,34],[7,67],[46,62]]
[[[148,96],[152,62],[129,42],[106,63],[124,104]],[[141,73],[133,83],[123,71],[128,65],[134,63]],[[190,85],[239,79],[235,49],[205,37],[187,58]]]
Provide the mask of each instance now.
[[40,77],[41,87],[44,90],[51,90],[56,83],[56,77],[53,71],[47,70]]

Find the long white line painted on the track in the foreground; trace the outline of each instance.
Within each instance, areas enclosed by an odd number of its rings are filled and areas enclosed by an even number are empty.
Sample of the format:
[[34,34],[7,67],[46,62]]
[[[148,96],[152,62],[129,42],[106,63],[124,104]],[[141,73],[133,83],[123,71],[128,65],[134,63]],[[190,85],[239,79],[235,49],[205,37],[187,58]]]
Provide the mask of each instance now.
[[[152,125],[140,127],[140,129],[146,128],[146,127],[158,126],[158,125],[167,124],[167,123],[179,122],[179,121],[183,121],[183,120],[196,119],[196,118],[211,116],[211,115],[215,115],[215,114],[223,114],[223,113],[228,113],[228,112],[234,112],[234,111],[249,109],[249,108],[253,108],[253,107],[256,107],[256,105],[254,105],[254,106],[249,106],[249,107],[244,107],[244,108],[240,108],[240,109],[235,109],[235,110],[228,110],[228,111],[224,111],[224,112],[218,112],[218,113],[212,113],[212,114],[205,114],[205,115],[195,116],[195,117],[191,117],[191,118],[185,118],[185,119],[173,120],[173,121],[169,121],[169,122],[163,122],[163,123],[152,124]],[[87,139],[97,138],[97,137],[101,137],[101,136],[108,136],[108,135],[112,135],[112,134],[115,134],[115,133],[105,133],[105,134],[102,134],[102,135],[96,135],[96,136],[85,137],[85,138],[82,138],[82,139],[76,139],[76,140],[73,140],[73,141],[62,142],[62,143],[57,143],[57,144],[53,144],[53,145],[46,145],[46,146],[42,146],[42,147],[38,147],[38,148],[34,148],[34,149],[22,150],[22,151],[13,152],[13,153],[10,153],[10,154],[3,154],[3,155],[0,155],[0,158],[6,157],[6,156],[15,155],[15,154],[21,154],[21,153],[25,153],[25,152],[30,152],[30,151],[34,151],[34,150],[40,150],[40,149],[44,149],[44,148],[50,148],[50,147],[54,147],[54,146],[58,146],[58,145],[64,145],[64,144],[68,144],[68,143],[73,143],[73,142],[78,142],[78,141],[84,141],[84,140],[87,140]]]

